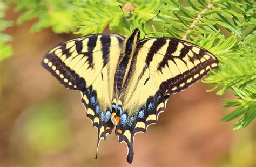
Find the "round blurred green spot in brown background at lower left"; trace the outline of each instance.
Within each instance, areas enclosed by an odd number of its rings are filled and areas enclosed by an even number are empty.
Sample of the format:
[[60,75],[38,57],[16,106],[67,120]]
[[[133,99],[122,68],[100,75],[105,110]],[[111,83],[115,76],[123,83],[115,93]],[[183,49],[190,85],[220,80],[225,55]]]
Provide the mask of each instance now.
[[24,136],[28,146],[38,153],[56,153],[68,146],[70,139],[69,121],[63,108],[56,104],[43,104],[30,108],[24,125]]

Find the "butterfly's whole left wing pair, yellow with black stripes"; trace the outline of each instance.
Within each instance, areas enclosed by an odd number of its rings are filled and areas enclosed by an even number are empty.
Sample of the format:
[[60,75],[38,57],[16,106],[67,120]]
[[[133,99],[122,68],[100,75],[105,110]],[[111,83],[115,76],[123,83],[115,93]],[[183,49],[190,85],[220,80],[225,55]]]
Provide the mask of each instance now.
[[[66,88],[82,92],[82,103],[98,129],[98,143],[111,133],[111,104],[122,35],[94,34],[51,49],[42,65]],[[111,63],[107,63],[110,62]]]

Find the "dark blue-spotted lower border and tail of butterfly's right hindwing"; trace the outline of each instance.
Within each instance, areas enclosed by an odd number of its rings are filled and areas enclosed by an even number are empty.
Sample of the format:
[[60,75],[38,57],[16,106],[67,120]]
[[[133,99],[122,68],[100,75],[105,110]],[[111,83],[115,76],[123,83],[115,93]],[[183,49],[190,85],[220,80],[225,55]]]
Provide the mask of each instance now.
[[116,135],[119,142],[127,144],[127,161],[129,163],[133,159],[134,136],[139,132],[145,133],[150,124],[156,124],[158,115],[165,110],[168,99],[168,95],[163,96],[160,91],[157,91],[154,96],[149,96],[145,103],[137,105],[136,101],[131,100],[129,101],[130,105],[124,105],[124,109],[120,110],[120,121],[116,126]]

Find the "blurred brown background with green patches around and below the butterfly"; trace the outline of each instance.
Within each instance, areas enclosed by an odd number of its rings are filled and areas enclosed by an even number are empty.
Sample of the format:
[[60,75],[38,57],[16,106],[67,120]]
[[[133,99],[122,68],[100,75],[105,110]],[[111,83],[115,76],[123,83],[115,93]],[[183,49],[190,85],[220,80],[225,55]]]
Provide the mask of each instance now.
[[[15,20],[9,10],[6,19]],[[97,132],[80,93],[65,89],[41,66],[53,46],[74,37],[49,29],[29,34],[33,21],[14,26],[14,55],[0,62],[0,166],[255,166],[255,123],[233,132],[220,119],[221,99],[198,82],[172,95],[157,125],[136,135],[134,159],[112,133],[95,160]]]

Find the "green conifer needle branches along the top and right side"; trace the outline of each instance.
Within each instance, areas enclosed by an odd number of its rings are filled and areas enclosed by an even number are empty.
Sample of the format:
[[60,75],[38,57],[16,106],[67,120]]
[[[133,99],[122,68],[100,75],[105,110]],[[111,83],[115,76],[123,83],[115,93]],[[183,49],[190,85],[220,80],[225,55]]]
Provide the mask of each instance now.
[[[142,37],[175,37],[210,50],[218,57],[219,69],[212,71],[205,83],[223,95],[232,90],[238,99],[225,100],[224,108],[235,107],[223,121],[240,117],[234,129],[247,126],[256,117],[255,4],[253,0],[155,0],[155,1],[36,1],[16,0],[16,10],[23,12],[17,20],[23,23],[38,18],[31,31],[52,27],[56,33],[114,33],[130,35],[140,28]],[[118,5],[123,6],[126,23]],[[77,27],[77,29],[76,29]],[[151,34],[150,34],[151,33]]]

